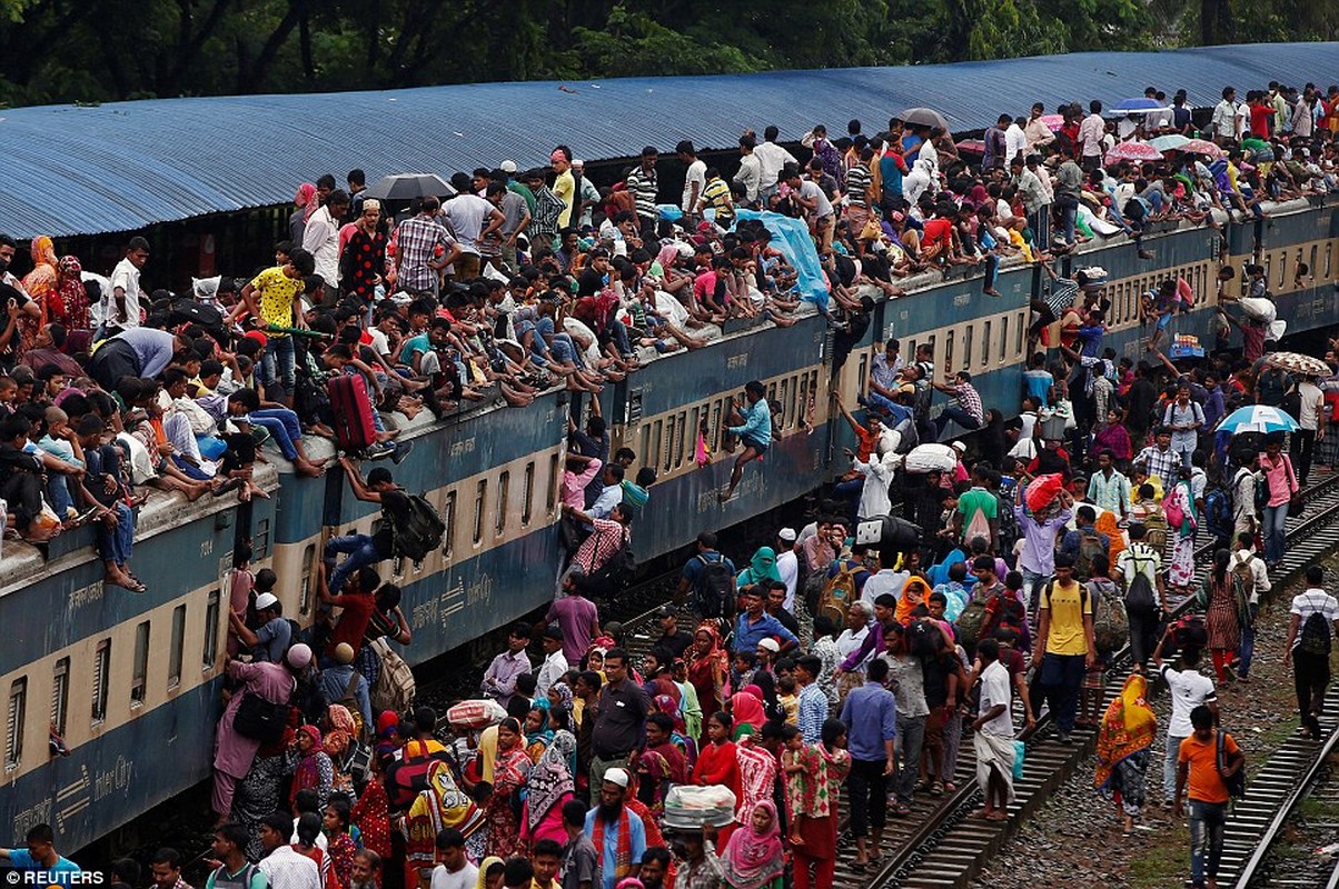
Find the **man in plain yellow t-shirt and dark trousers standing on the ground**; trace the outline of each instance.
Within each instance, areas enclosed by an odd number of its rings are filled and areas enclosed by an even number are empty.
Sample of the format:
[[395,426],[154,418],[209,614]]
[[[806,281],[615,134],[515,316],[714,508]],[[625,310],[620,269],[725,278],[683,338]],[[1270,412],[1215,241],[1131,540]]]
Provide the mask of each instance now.
[[1055,580],[1042,590],[1032,664],[1040,665],[1040,683],[1055,714],[1060,743],[1070,743],[1083,673],[1097,663],[1093,644],[1093,598],[1074,580],[1074,557],[1055,557]]

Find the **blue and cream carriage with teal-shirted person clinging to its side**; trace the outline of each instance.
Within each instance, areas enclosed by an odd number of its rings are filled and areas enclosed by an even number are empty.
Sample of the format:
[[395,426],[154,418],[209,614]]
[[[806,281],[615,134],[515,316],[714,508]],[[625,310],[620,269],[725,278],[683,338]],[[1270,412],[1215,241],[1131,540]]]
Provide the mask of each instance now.
[[[710,347],[659,356],[645,363],[605,399],[613,447],[631,447],[636,466],[652,466],[657,481],[651,503],[633,522],[639,562],[690,544],[704,529],[719,529],[803,497],[828,462],[828,327],[805,307],[789,328],[773,324],[731,328]],[[751,463],[724,505],[730,471],[739,454],[722,450],[731,399],[759,380],[781,403],[773,444]],[[612,402],[612,406],[609,406]],[[708,462],[699,466],[698,436]]]

